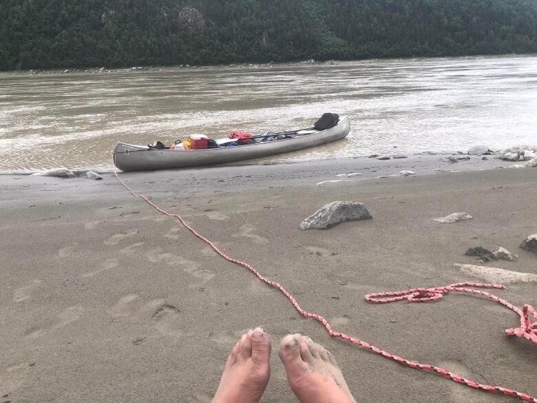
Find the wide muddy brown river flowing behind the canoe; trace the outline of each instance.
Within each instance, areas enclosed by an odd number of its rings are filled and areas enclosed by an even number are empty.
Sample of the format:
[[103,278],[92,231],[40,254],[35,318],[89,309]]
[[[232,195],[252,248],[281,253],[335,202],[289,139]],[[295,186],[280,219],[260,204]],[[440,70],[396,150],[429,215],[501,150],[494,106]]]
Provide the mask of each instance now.
[[347,115],[343,141],[256,163],[537,143],[537,56],[250,67],[0,73],[0,172],[109,170],[116,141],[310,127]]

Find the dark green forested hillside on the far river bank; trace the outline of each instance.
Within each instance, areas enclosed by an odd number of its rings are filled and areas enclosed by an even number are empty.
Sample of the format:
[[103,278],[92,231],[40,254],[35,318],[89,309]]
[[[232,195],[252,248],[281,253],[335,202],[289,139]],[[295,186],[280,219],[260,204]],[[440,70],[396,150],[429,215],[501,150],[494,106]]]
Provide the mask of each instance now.
[[0,70],[537,52],[537,0],[0,0]]

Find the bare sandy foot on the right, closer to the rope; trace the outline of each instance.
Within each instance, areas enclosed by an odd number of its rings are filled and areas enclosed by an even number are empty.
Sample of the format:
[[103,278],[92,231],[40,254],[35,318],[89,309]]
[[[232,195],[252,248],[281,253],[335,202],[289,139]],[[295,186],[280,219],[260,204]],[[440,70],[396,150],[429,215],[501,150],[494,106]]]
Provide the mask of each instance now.
[[286,335],[280,359],[301,403],[356,403],[332,353],[307,336]]

